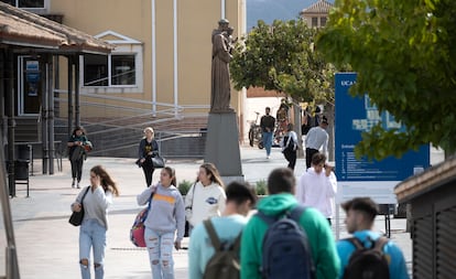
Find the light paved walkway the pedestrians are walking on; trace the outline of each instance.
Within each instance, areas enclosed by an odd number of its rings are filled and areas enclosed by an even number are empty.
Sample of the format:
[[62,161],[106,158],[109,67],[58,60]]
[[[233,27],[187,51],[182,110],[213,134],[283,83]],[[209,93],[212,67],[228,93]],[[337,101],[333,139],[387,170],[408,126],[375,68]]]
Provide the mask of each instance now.
[[[265,151],[250,147],[241,148],[242,171],[249,182],[265,180],[269,172],[286,162],[279,149],[274,148],[270,160]],[[169,161],[176,169],[177,181],[194,181],[202,161]],[[11,198],[14,236],[18,247],[19,268],[22,279],[80,278],[78,266],[78,228],[68,224],[69,205],[77,189],[70,187],[69,162],[64,159],[63,172],[54,175],[40,174],[40,161],[35,162],[35,175],[31,176],[30,197],[25,197],[24,185],[18,185],[18,196]],[[109,213],[108,247],[106,250],[106,277],[108,279],[151,278],[146,250],[135,248],[129,240],[129,229],[140,207],[135,195],[145,186],[142,170],[134,159],[91,158],[85,162],[83,185],[88,185],[88,171],[102,164],[119,184],[121,195],[115,198]],[[296,175],[301,175],[305,161],[298,159]],[[154,181],[160,172],[154,173]],[[340,221],[341,237],[346,236]],[[3,226],[3,223],[0,224]],[[392,239],[404,250],[406,261],[411,261],[410,235],[404,232],[404,219],[392,219]],[[383,219],[376,228],[384,229]],[[0,247],[6,247],[4,229],[0,230]],[[187,246],[188,239],[184,239]],[[174,253],[176,278],[187,278],[187,251]],[[0,262],[6,262],[0,253]],[[0,265],[0,276],[4,275]]]

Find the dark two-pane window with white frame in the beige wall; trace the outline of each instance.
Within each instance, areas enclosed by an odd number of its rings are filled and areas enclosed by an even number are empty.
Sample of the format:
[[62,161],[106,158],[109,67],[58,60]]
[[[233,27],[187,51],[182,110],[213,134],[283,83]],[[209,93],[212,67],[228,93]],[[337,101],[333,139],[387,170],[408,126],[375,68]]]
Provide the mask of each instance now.
[[84,55],[84,86],[134,86],[134,54]]

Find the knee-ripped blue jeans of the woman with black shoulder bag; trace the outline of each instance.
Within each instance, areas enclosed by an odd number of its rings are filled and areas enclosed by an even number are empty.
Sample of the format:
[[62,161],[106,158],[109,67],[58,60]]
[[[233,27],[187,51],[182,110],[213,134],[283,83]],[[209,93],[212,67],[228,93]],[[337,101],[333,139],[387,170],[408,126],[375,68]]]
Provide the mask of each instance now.
[[79,259],[88,261],[87,266],[79,262],[83,279],[90,279],[90,247],[94,250],[95,279],[102,279],[105,277],[106,227],[96,219],[85,219],[79,229]]

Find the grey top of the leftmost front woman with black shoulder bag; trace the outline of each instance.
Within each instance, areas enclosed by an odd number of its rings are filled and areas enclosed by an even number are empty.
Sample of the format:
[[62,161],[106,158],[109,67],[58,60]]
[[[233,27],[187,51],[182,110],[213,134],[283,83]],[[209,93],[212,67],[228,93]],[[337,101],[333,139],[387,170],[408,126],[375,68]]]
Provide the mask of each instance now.
[[[80,203],[84,193],[87,187],[84,187],[83,191],[77,195],[76,202]],[[84,197],[84,219],[94,218],[98,223],[108,229],[108,206],[112,204],[112,193],[111,191],[106,191],[102,186],[98,186],[94,192],[91,187],[87,192],[86,197]],[[72,204],[73,207],[73,204]]]

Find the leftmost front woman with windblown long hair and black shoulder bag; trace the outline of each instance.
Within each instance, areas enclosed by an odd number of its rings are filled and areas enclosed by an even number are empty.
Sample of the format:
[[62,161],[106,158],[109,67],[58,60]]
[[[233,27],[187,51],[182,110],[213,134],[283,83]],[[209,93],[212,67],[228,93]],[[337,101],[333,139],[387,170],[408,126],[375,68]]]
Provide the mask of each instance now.
[[83,279],[90,279],[90,248],[94,251],[95,279],[102,279],[105,276],[107,211],[112,204],[112,195],[119,195],[116,182],[105,168],[95,165],[90,170],[90,185],[80,191],[72,204],[74,212],[80,212],[84,207],[84,219],[79,228],[79,266]]

